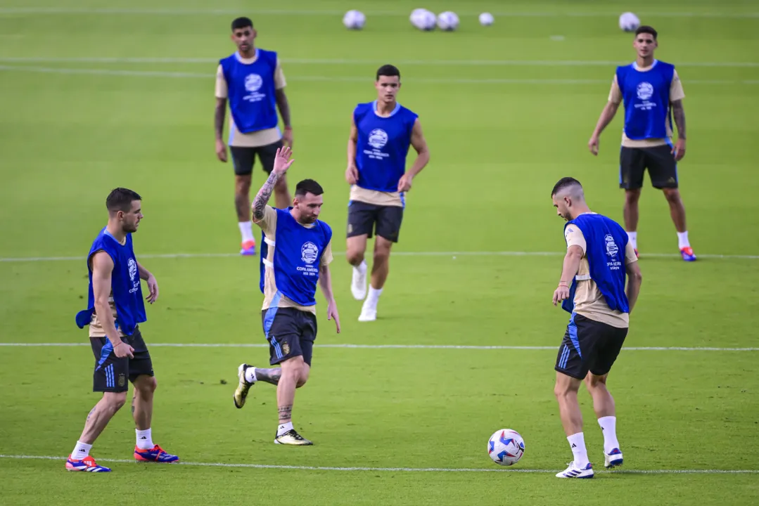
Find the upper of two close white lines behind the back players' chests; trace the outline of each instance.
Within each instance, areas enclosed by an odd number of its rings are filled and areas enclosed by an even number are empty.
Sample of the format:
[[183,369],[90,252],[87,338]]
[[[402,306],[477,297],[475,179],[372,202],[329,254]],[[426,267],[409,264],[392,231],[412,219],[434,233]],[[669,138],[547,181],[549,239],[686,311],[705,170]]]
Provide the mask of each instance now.
[[[219,58],[82,56],[52,58],[45,56],[0,56],[3,63],[149,63],[149,64],[218,64]],[[384,64],[384,60],[351,58],[282,58],[283,64],[361,65]],[[468,66],[468,67],[613,67],[629,61],[603,60],[398,60],[397,65]],[[691,61],[678,62],[678,67],[757,68],[757,61]]]

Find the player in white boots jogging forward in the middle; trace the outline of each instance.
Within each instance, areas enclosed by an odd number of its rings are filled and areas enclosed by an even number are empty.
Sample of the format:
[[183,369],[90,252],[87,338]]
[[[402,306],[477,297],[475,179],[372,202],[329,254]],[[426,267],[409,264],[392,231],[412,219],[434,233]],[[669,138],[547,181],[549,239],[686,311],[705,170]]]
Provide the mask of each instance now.
[[[351,185],[348,203],[348,263],[353,266],[351,293],[364,300],[360,322],[376,319],[377,302],[389,272],[390,248],[398,242],[405,192],[414,176],[430,162],[430,150],[417,114],[398,104],[401,73],[392,65],[376,72],[377,98],[358,104],[351,117],[348,138],[348,168],[345,180]],[[414,146],[417,158],[406,171],[406,155]],[[367,238],[376,234],[371,285],[367,297]]]

